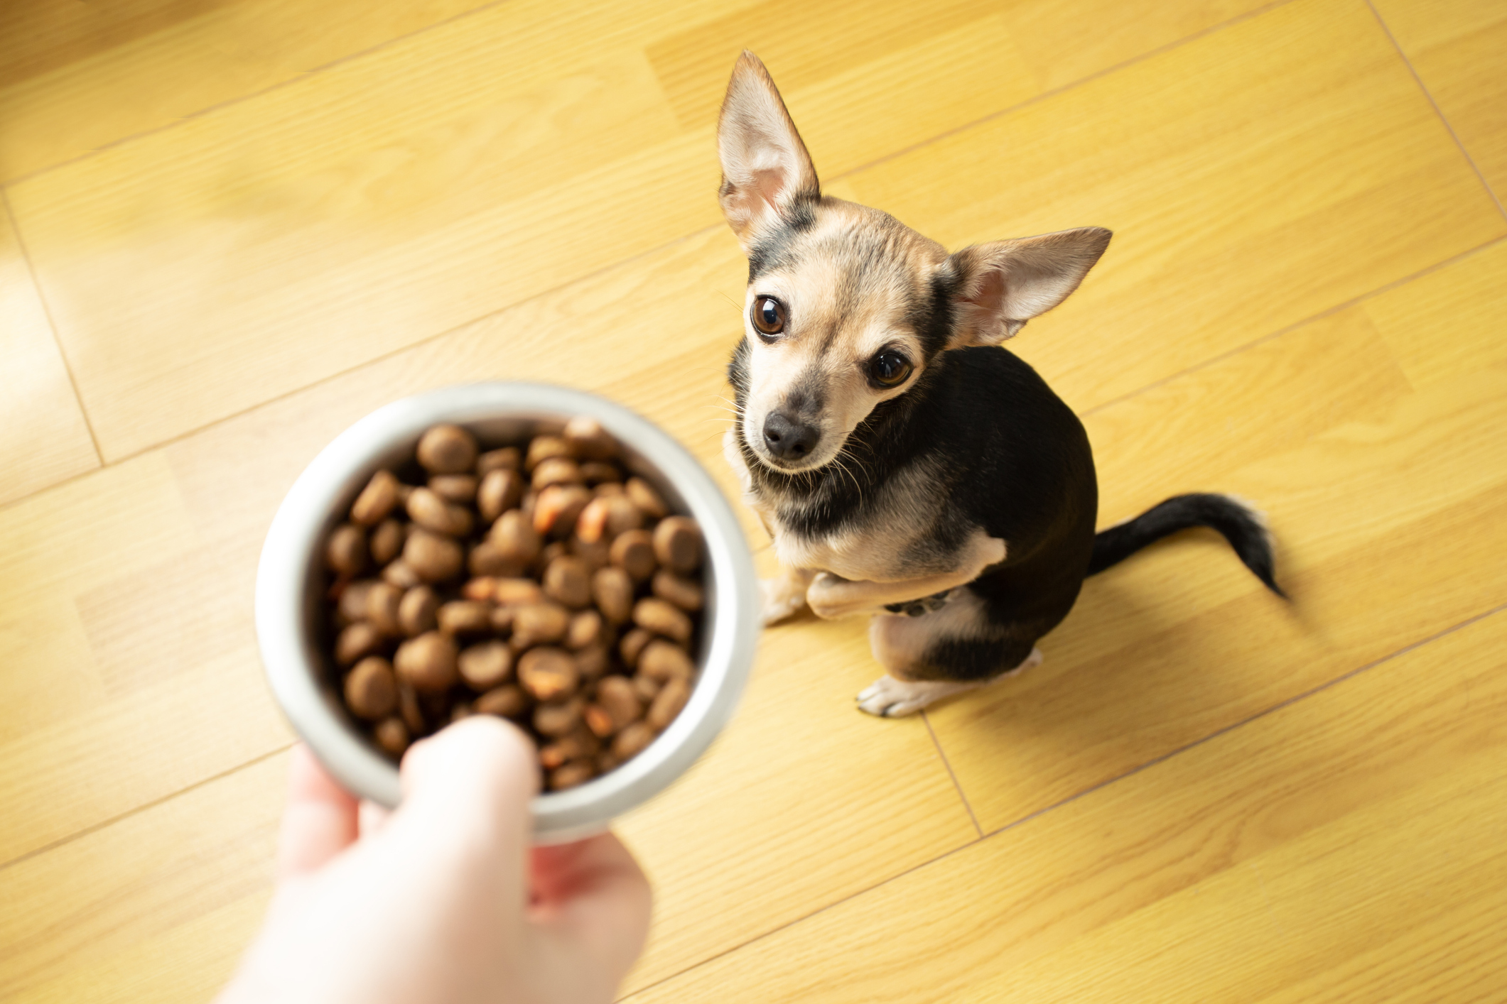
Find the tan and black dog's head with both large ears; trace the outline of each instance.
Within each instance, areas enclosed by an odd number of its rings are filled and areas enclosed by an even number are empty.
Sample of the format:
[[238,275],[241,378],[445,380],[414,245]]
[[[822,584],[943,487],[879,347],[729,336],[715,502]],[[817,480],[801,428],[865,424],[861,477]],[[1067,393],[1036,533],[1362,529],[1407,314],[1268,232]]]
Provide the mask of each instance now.
[[942,352],[999,345],[1062,303],[1109,244],[1085,227],[948,254],[885,212],[824,197],[752,53],[732,69],[717,154],[722,211],[749,256],[734,361],[743,443],[782,473],[832,462]]

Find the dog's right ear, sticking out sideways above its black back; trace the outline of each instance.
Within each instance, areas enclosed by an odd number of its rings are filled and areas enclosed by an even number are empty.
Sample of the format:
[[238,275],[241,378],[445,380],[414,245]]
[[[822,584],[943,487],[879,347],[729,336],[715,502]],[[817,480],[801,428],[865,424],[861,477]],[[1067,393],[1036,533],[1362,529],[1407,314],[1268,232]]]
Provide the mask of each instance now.
[[1081,227],[1019,241],[975,244],[948,259],[952,294],[949,349],[999,345],[1038,313],[1067,300],[1109,247],[1109,230]]

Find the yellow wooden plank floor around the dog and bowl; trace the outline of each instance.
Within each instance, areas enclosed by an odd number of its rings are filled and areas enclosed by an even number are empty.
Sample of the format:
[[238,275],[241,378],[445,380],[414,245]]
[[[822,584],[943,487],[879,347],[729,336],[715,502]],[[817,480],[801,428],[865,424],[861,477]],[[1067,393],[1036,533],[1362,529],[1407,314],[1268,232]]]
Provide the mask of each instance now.
[[833,194],[949,247],[1115,230],[1013,348],[1102,524],[1255,500],[1293,602],[1189,534],[906,721],[853,709],[864,623],[769,631],[621,823],[624,995],[1507,1001],[1498,0],[6,3],[0,998],[203,1001],[252,936],[291,744],[255,564],[348,423],[568,382],[731,491],[743,47]]

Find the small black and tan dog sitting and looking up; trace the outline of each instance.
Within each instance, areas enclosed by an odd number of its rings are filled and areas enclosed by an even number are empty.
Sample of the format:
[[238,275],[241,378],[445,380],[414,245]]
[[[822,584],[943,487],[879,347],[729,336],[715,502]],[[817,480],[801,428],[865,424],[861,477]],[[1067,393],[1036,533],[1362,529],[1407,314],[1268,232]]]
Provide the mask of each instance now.
[[948,254],[877,209],[823,196],[785,102],[743,53],[717,123],[728,224],[749,259],[725,449],[775,542],[764,619],[871,614],[873,715],[1041,661],[1084,578],[1212,527],[1273,592],[1261,516],[1177,495],[1094,533],[1082,423],[1001,346],[1078,289],[1109,245],[1084,227]]

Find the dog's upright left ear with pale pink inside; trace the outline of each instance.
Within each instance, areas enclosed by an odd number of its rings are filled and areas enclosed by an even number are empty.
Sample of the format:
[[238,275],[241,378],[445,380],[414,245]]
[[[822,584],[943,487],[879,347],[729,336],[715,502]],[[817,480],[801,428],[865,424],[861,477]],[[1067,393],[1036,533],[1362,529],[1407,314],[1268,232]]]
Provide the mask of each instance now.
[[779,220],[794,221],[821,187],[806,145],[785,111],[769,71],[747,50],[732,66],[717,119],[722,188],[717,200],[747,251],[755,235]]

